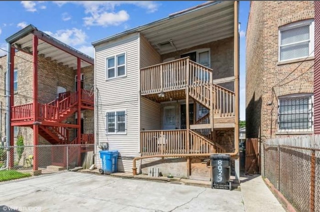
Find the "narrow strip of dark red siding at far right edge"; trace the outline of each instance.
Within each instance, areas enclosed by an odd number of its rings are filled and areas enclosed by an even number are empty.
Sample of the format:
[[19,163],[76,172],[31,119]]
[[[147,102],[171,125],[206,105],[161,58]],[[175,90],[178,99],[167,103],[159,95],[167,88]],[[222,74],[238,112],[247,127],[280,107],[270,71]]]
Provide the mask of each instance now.
[[314,1],[314,133],[320,134],[320,1]]

